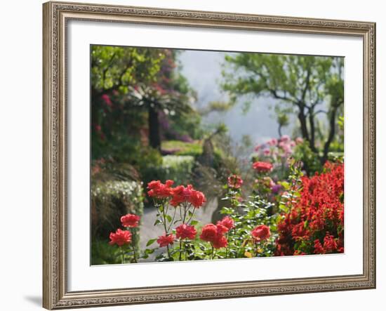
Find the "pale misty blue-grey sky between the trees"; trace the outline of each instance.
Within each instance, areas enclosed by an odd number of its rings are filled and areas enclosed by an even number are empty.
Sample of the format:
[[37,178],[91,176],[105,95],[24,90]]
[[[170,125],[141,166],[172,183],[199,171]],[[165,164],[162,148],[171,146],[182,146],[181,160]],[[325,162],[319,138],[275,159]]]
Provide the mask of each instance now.
[[[226,100],[221,92],[219,82],[222,80],[221,64],[226,52],[183,51],[179,55],[182,74],[187,77],[190,86],[197,91],[197,107],[205,107],[208,102]],[[232,54],[232,53],[228,53]],[[224,122],[229,129],[232,140],[239,141],[243,135],[249,135],[253,143],[262,143],[269,138],[277,138],[277,121],[269,105],[271,98],[253,99],[250,110],[243,113],[242,100],[227,112],[212,112],[204,117],[204,124]],[[293,126],[282,129],[282,133],[291,134]]]

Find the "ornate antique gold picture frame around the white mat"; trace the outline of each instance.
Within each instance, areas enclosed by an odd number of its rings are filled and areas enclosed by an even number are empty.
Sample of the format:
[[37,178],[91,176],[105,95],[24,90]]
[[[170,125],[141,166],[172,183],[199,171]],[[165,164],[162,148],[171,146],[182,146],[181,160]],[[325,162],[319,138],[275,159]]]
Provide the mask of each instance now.
[[[43,306],[160,303],[375,288],[375,23],[236,13],[180,11],[51,1],[44,15]],[[363,40],[363,273],[326,277],[69,291],[67,275],[67,23],[132,23],[331,34]],[[359,204],[359,203],[358,203]],[[189,265],[189,263],[187,263]]]

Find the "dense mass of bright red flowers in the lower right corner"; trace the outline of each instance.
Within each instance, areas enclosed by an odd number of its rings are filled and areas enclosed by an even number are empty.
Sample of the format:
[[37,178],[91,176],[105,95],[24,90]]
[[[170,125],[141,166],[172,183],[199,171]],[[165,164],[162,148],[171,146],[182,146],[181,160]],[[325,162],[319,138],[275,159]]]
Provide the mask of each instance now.
[[278,224],[277,256],[342,253],[343,164],[327,162],[324,173],[302,177],[300,196]]

